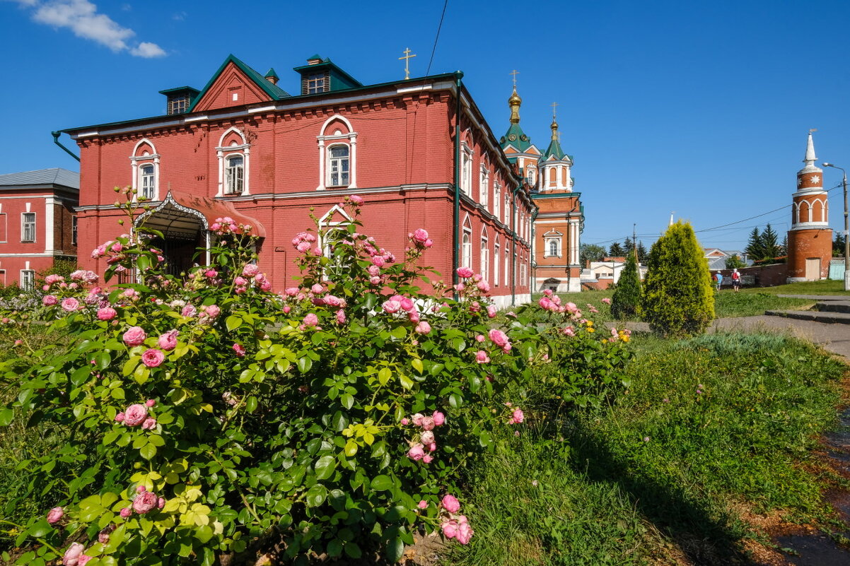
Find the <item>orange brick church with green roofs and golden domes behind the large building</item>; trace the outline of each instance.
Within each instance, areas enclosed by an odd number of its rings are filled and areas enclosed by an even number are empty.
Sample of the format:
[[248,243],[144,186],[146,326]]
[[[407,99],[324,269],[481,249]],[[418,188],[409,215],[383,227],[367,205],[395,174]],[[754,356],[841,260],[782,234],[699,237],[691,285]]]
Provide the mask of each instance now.
[[519,170],[530,190],[536,210],[530,218],[519,218],[529,227],[532,242],[532,292],[581,291],[579,246],[584,229],[581,193],[573,191],[570,176],[572,156],[561,149],[558,122],[553,115],[552,138],[545,151],[539,150],[519,125],[519,98],[516,86],[507,99],[511,125],[500,143],[508,161]]

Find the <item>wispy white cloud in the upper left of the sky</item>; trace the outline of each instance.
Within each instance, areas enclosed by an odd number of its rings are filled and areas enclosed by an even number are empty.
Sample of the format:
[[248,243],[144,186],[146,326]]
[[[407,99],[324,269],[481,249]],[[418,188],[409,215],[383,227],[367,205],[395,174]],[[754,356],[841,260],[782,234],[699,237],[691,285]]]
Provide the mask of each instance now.
[[66,28],[77,37],[97,42],[116,53],[126,51],[136,57],[164,57],[166,52],[156,43],[132,41],[136,32],[123,27],[88,0],[12,0],[24,8],[35,8],[32,20]]

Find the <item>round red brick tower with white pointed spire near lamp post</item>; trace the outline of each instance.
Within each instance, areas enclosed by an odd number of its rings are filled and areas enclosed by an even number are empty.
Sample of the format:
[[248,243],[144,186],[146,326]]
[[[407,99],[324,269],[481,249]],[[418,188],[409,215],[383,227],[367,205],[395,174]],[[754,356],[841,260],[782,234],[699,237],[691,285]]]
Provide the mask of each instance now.
[[788,282],[817,281],[830,275],[832,229],[824,171],[817,167],[812,133],[808,133],[806,167],[797,172],[788,231]]

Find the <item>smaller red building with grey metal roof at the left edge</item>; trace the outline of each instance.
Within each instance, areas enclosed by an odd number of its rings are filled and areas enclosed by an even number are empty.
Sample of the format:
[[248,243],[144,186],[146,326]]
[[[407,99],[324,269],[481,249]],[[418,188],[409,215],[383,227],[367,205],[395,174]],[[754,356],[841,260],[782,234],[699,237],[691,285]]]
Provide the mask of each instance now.
[[79,186],[60,168],[0,175],[0,285],[31,289],[56,259],[77,259]]

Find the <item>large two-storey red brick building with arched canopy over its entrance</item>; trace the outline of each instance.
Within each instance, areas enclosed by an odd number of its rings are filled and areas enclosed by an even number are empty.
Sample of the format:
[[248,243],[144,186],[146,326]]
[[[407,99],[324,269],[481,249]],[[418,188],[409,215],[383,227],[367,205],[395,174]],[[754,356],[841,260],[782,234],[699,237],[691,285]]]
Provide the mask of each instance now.
[[[408,233],[427,229],[426,260],[444,280],[467,265],[501,306],[529,299],[530,189],[462,73],[362,85],[318,55],[294,71],[291,95],[273,69],[230,55],[201,90],[161,91],[164,116],[65,130],[80,148],[82,249],[121,231],[113,188],[132,185],[153,200],[144,222],[165,231],[171,269],[190,266],[213,218],[239,214],[258,227],[259,265],[282,291],[309,210],[345,222],[337,203],[356,194],[364,231],[388,251],[401,257]],[[88,252],[80,266],[105,270]]]

